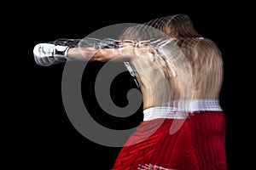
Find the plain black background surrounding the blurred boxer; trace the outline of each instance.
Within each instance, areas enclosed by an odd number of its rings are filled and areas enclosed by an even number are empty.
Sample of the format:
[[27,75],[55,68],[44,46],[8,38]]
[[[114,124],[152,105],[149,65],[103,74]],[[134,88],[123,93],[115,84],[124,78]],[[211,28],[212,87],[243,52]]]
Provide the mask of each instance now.
[[[102,146],[84,138],[69,121],[61,99],[61,78],[64,64],[42,67],[33,60],[32,49],[39,42],[57,38],[83,38],[104,26],[118,23],[143,23],[172,14],[188,14],[195,29],[212,39],[223,53],[224,84],[220,103],[226,115],[226,152],[228,169],[247,169],[253,162],[253,124],[249,121],[247,94],[253,72],[248,59],[248,25],[252,21],[241,3],[225,7],[222,3],[174,4],[119,2],[108,3],[32,3],[30,8],[15,10],[10,18],[14,29],[10,42],[15,59],[7,85],[12,88],[9,116],[15,128],[8,132],[5,158],[8,166],[38,169],[43,167],[71,169],[110,169],[120,148]],[[108,4],[108,7],[107,7]],[[105,6],[106,5],[106,6]],[[241,9],[247,13],[239,13]],[[15,21],[14,21],[15,20]],[[15,48],[14,48],[15,47]],[[140,114],[124,120],[110,119],[94,99],[94,80],[102,63],[91,63],[84,72],[82,91],[96,121],[104,126],[125,128],[136,126]],[[119,65],[119,64],[117,64]],[[13,70],[9,68],[9,71]],[[248,78],[247,78],[248,77]],[[249,80],[249,81],[248,81]],[[252,86],[253,87],[253,86]],[[113,82],[112,95],[117,105],[125,105],[125,92],[135,88],[129,74]],[[247,92],[246,92],[247,91]],[[10,122],[9,122],[10,124]],[[9,126],[10,127],[10,126]]]

